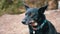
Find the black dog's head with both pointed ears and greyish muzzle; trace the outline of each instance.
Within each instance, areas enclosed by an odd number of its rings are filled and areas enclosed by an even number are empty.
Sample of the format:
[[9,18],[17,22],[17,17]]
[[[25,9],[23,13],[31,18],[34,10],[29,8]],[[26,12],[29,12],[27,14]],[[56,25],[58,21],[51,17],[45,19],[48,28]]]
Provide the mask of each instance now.
[[41,8],[30,8],[25,5],[26,13],[25,18],[22,20],[23,24],[31,24],[37,23],[43,19],[45,19],[44,12],[48,5],[41,7]]

